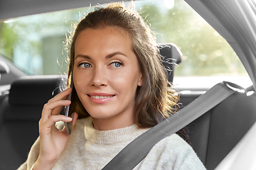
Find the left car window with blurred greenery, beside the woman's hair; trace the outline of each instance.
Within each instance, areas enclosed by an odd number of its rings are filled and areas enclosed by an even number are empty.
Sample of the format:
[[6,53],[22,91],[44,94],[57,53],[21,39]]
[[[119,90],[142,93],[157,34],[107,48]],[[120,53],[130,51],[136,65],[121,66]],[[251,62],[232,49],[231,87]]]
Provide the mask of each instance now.
[[65,38],[71,24],[90,8],[9,19],[0,23],[0,54],[28,75],[66,72]]

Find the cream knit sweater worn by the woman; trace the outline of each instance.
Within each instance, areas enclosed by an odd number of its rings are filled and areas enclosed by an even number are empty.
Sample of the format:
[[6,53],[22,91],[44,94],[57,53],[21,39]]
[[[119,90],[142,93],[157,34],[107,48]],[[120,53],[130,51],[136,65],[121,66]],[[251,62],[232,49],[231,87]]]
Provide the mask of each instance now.
[[[53,169],[102,169],[129,142],[146,130],[132,125],[101,131],[93,128],[91,117],[80,119],[75,123],[70,139]],[[39,139],[31,147],[27,161],[18,170],[32,169],[38,154]],[[134,169],[201,170],[205,167],[193,149],[174,134],[158,142]]]

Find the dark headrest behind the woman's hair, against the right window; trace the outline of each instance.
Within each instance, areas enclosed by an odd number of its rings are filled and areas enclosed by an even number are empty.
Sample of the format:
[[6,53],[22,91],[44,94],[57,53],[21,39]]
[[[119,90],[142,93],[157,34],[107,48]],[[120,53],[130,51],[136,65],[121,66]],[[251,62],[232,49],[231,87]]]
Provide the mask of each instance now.
[[174,80],[174,67],[181,63],[181,50],[174,43],[159,44],[159,52],[169,74],[168,80]]

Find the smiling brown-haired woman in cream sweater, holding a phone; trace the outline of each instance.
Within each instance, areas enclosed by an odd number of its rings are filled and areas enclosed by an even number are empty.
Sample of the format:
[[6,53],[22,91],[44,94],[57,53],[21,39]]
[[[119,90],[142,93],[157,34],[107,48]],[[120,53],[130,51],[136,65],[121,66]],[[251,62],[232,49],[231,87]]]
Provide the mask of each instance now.
[[[20,169],[102,169],[129,142],[173,111],[156,40],[138,13],[97,7],[70,36],[69,82],[44,106],[40,137]],[[69,83],[70,84],[70,83]],[[58,115],[70,105],[72,118]],[[70,122],[68,135],[58,121]],[[59,130],[60,129],[60,130]],[[39,145],[40,143],[40,145]],[[205,169],[193,149],[171,135],[134,169]]]

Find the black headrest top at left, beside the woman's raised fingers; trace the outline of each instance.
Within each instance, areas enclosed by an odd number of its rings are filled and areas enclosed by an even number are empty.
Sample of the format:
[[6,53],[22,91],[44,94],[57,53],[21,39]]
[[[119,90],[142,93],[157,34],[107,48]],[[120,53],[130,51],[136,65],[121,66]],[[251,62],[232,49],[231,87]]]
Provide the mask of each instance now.
[[11,105],[43,105],[61,90],[65,89],[65,76],[21,77],[11,84],[9,103]]

